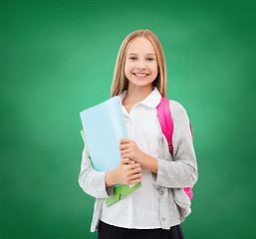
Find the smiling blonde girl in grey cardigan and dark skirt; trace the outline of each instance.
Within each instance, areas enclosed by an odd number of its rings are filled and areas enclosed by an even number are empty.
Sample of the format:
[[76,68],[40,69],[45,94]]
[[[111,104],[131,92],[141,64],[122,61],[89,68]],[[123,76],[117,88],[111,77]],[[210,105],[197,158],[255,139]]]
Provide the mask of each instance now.
[[[166,95],[166,67],[158,38],[137,30],[124,40],[116,63],[111,97],[120,96],[128,129],[121,138],[118,168],[96,171],[84,148],[80,186],[96,197],[91,231],[98,239],[183,238],[180,223],[191,212],[183,187],[197,180],[189,119],[184,108],[169,101],[173,121],[173,157],[161,131],[156,107]],[[142,186],[107,207],[114,185]]]

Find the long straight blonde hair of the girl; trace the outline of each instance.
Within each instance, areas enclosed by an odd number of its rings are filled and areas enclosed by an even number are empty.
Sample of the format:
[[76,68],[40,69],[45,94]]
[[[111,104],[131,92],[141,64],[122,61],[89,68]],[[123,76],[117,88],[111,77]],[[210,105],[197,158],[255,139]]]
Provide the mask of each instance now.
[[152,83],[153,87],[156,87],[162,97],[166,96],[166,85],[167,85],[167,76],[166,76],[166,64],[163,49],[159,39],[156,35],[148,29],[145,30],[136,30],[130,33],[126,39],[123,41],[117,62],[114,71],[114,77],[111,88],[111,98],[115,96],[119,96],[123,91],[128,90],[128,79],[125,75],[125,66],[126,66],[126,57],[128,46],[132,40],[135,38],[143,37],[149,40],[155,50],[156,53],[156,61],[158,65],[158,74],[155,80]]

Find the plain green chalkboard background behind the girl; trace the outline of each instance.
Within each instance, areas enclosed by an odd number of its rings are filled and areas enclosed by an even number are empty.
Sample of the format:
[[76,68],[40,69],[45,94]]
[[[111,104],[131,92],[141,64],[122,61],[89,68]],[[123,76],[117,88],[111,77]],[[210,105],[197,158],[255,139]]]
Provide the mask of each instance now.
[[79,113],[110,98],[126,36],[149,29],[198,162],[185,238],[255,238],[255,1],[1,1],[0,238],[97,238],[78,183]]

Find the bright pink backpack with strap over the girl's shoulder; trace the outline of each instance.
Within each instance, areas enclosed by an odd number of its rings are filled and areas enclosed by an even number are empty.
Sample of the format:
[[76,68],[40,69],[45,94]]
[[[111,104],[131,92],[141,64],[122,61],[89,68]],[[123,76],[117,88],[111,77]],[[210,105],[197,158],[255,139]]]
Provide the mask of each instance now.
[[[157,116],[161,125],[162,133],[165,135],[167,139],[169,151],[173,157],[173,146],[172,146],[173,122],[172,122],[170,110],[169,110],[169,100],[167,98],[161,98],[161,101],[159,105],[156,107],[156,110],[157,110]],[[193,136],[190,122],[189,122],[189,126],[190,126],[191,135]],[[191,200],[193,197],[192,187],[184,187],[183,189],[187,194],[187,196],[189,197],[189,199]]]

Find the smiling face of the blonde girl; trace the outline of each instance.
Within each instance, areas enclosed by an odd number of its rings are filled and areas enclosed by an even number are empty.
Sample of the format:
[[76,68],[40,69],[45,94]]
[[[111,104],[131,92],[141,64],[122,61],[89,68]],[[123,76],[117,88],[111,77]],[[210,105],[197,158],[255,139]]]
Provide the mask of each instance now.
[[157,76],[156,54],[151,42],[145,38],[135,38],[128,46],[125,75],[128,85],[152,86]]

